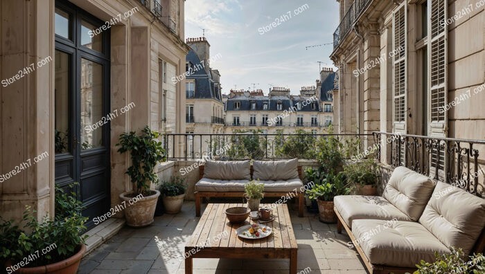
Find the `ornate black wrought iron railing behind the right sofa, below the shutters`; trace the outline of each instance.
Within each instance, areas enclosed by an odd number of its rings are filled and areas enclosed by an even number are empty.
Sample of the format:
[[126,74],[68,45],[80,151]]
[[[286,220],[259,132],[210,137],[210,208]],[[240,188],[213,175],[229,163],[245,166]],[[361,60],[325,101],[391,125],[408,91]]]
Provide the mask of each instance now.
[[[432,179],[485,197],[485,140],[374,133],[383,140],[392,167],[409,167]],[[382,148],[378,146],[378,156]],[[482,158],[479,158],[482,156]],[[380,160],[380,157],[378,157]]]

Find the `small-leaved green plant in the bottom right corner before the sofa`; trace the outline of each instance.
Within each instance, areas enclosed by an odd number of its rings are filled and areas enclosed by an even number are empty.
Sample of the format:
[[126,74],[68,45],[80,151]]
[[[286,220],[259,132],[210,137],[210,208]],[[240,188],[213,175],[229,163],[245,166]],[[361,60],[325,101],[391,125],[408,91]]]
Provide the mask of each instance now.
[[481,253],[469,256],[468,262],[464,260],[466,256],[461,248],[451,248],[451,253],[447,254],[435,253],[435,257],[433,263],[421,260],[414,274],[485,273],[485,257]]

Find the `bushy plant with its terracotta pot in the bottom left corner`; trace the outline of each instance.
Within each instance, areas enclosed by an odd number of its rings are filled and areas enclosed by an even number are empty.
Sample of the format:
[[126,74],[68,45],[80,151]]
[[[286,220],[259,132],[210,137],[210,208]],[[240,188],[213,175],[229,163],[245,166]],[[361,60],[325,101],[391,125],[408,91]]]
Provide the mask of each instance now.
[[81,233],[87,217],[81,216],[81,205],[75,194],[56,187],[53,219],[37,220],[28,206],[23,229],[0,218],[0,265],[7,273],[76,273],[86,252]]

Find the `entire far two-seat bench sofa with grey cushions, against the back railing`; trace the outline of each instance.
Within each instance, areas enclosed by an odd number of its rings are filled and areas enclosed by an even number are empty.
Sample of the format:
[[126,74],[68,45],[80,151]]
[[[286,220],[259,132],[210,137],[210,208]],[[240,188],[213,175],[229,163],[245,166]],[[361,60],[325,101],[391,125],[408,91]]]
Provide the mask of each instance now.
[[265,184],[265,197],[282,197],[293,192],[298,199],[298,215],[303,217],[303,182],[298,159],[285,161],[206,161],[200,165],[200,181],[195,183],[195,216],[200,217],[203,197],[244,197],[252,179]]

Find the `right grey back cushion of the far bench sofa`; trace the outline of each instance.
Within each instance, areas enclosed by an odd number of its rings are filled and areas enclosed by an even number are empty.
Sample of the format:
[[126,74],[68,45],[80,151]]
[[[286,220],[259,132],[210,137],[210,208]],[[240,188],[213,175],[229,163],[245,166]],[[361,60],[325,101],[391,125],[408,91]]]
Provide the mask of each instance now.
[[286,181],[298,178],[298,159],[284,161],[254,161],[253,179]]

